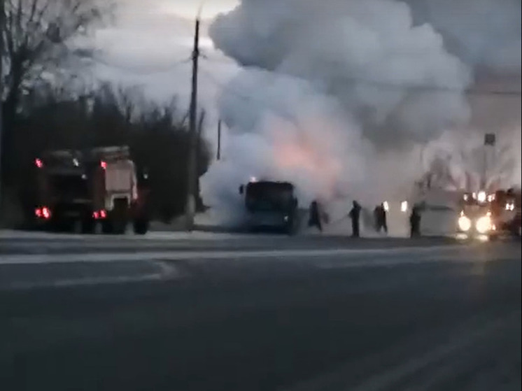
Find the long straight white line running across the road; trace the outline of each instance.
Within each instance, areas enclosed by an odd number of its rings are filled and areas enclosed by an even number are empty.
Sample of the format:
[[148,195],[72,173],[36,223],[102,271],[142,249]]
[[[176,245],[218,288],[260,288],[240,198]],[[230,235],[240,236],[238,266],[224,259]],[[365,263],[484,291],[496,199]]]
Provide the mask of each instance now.
[[69,253],[69,254],[20,254],[1,255],[0,265],[8,264],[57,264],[72,262],[118,262],[147,260],[225,260],[252,258],[314,258],[351,255],[416,255],[417,253],[453,253],[462,245],[432,247],[396,247],[376,249],[333,248],[325,250],[237,250],[237,251],[140,251],[139,253]]

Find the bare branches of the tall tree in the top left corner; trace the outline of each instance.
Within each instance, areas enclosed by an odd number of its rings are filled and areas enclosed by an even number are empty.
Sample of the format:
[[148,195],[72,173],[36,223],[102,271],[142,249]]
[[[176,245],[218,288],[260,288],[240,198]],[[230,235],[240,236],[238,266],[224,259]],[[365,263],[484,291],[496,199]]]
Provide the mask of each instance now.
[[20,98],[53,74],[72,52],[73,38],[86,34],[110,10],[108,0],[3,0],[4,116],[7,131]]

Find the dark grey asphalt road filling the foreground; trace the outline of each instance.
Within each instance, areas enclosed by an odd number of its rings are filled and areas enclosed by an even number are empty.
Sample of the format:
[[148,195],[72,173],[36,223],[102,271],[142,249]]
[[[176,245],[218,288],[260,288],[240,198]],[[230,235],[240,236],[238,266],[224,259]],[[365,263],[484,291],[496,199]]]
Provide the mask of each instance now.
[[520,390],[521,245],[0,235],[1,390]]

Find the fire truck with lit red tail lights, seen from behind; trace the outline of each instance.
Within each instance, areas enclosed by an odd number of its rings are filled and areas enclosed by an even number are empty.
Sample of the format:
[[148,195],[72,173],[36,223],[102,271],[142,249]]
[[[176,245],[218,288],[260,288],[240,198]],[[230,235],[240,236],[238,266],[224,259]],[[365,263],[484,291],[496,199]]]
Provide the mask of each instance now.
[[51,150],[34,160],[41,227],[124,234],[148,231],[148,173],[139,171],[127,146]]

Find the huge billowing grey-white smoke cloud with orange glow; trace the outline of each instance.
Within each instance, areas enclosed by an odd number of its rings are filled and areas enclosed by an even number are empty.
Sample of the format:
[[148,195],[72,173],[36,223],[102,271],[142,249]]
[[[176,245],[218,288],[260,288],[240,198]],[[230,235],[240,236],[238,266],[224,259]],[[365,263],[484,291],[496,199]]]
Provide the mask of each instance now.
[[305,205],[408,192],[418,145],[470,118],[470,69],[406,3],[243,0],[210,34],[245,66],[220,99],[230,134],[202,178],[210,206],[234,206],[251,176],[291,180]]

